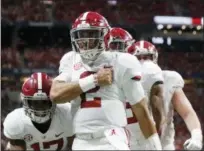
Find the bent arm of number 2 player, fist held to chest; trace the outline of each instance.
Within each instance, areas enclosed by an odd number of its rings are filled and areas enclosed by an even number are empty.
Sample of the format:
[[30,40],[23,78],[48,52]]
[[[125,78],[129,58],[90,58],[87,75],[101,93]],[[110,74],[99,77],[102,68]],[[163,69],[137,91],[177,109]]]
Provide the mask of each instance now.
[[[68,74],[68,73],[67,73]],[[55,103],[70,102],[83,92],[112,83],[112,69],[101,68],[96,74],[79,79],[77,82],[66,82],[67,75],[60,74],[52,83],[50,98]]]

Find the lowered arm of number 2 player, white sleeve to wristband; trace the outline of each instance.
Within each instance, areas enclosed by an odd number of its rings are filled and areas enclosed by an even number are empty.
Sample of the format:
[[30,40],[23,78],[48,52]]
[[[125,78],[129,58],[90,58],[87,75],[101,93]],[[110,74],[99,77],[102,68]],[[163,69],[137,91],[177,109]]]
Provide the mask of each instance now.
[[[141,66],[135,57],[126,57],[124,62],[128,68],[123,77],[123,91],[127,100],[130,102],[132,111],[138,119],[140,128],[145,138],[150,144],[150,149],[161,150],[161,142],[156,131],[156,127],[151,119],[147,98],[140,82]],[[132,65],[132,66],[131,66]]]

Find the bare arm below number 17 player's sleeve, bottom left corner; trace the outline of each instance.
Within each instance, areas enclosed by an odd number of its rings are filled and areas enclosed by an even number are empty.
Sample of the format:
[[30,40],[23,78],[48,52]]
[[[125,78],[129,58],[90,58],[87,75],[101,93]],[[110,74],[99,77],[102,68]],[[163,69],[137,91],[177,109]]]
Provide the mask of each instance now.
[[6,150],[26,150],[26,144],[24,140],[20,139],[9,139],[6,146]]

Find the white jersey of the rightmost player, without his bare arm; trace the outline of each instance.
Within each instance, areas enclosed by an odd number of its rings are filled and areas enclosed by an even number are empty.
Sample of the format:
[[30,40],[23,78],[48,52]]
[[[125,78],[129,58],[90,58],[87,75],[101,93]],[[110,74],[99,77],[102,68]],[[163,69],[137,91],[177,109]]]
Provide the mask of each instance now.
[[[164,77],[164,107],[166,113],[166,123],[162,127],[161,143],[163,149],[174,149],[175,129],[173,123],[174,107],[172,104],[172,97],[174,91],[178,88],[184,87],[184,80],[181,75],[175,71],[163,71]],[[170,148],[169,148],[170,147]]]

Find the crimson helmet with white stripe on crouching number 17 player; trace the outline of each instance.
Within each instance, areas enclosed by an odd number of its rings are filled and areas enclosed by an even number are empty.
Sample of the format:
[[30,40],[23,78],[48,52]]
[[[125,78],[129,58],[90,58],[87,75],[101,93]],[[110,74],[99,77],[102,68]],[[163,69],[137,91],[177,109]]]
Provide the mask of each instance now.
[[22,86],[21,99],[25,114],[36,123],[52,118],[56,105],[49,98],[51,78],[46,73],[33,73]]

